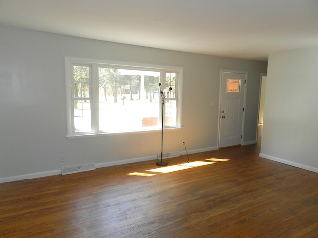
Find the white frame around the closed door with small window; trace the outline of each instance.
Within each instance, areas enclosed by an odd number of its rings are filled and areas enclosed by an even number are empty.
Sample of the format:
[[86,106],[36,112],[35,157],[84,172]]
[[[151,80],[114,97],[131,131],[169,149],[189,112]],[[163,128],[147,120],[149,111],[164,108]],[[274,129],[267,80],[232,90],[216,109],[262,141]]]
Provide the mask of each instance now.
[[243,99],[243,116],[242,116],[242,138],[240,140],[240,144],[243,144],[244,141],[244,128],[245,128],[245,113],[246,113],[246,95],[247,95],[247,82],[248,82],[248,72],[246,71],[238,71],[238,70],[225,70],[225,69],[221,69],[220,72],[220,88],[219,88],[219,113],[218,113],[218,145],[217,147],[219,147],[220,145],[220,130],[221,130],[221,93],[222,93],[222,75],[223,73],[241,73],[241,74],[245,74],[245,83],[244,83],[244,99]]

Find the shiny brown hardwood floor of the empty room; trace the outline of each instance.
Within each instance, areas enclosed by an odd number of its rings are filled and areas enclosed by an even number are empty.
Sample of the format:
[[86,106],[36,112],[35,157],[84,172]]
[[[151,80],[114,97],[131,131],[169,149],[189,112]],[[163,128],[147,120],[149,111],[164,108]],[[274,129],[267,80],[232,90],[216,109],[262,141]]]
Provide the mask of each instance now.
[[318,174],[258,154],[248,145],[191,154],[228,160],[171,173],[146,161],[2,183],[0,237],[317,238]]

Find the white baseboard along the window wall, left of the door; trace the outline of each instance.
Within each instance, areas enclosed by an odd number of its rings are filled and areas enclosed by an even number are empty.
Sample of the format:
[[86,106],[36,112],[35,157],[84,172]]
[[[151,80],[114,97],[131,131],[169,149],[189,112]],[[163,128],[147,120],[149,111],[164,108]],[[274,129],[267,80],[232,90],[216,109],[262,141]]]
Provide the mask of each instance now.
[[[196,149],[196,150],[188,150],[188,154],[200,153],[200,152],[217,150],[217,149],[218,147],[208,147],[208,148],[202,148],[202,149]],[[180,152],[180,154],[186,155],[186,152],[182,151]],[[129,163],[135,163],[135,162],[141,162],[141,161],[147,161],[147,160],[157,160],[157,155],[98,163],[98,164],[95,164],[95,166],[96,168],[102,168],[102,167],[108,167],[113,165],[123,165],[123,164],[129,164]],[[33,173],[33,174],[26,174],[26,175],[10,176],[10,177],[0,178],[0,183],[13,182],[13,181],[24,180],[24,179],[35,179],[35,178],[52,176],[52,175],[60,175],[60,174],[61,174],[61,169],[52,170],[52,171],[44,171],[44,172]]]

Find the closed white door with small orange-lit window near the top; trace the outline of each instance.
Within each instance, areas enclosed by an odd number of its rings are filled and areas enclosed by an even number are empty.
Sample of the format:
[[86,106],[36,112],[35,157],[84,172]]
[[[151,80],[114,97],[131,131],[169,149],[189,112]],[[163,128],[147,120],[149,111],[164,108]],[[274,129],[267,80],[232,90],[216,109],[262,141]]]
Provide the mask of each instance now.
[[242,142],[246,73],[222,72],[219,147]]

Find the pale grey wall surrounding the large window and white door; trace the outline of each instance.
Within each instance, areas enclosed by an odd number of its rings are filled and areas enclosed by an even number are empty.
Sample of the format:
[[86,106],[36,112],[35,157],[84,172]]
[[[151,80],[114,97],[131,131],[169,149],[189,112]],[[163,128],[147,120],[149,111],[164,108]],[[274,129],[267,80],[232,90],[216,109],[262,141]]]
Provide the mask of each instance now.
[[[160,131],[67,139],[64,57],[181,66],[183,129],[164,134],[164,150],[218,146],[221,69],[248,72],[246,143],[256,142],[260,74],[267,63],[138,47],[0,26],[0,182],[58,174],[61,166],[99,166],[156,158]],[[210,102],[215,102],[215,107]],[[60,162],[65,155],[65,162]],[[130,160],[131,159],[131,160]]]

